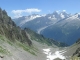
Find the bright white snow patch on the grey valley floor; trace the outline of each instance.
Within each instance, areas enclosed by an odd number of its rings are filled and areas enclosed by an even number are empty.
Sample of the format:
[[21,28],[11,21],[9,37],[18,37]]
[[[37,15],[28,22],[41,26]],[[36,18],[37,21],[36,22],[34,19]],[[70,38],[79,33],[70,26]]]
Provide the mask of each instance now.
[[[45,53],[47,55],[47,59],[46,60],[54,60],[56,58],[60,58],[60,59],[66,59],[65,56],[63,56],[63,53],[61,53],[61,51],[56,51],[55,53],[52,54],[52,52],[50,51],[50,48],[48,49],[43,49],[43,53]],[[65,52],[64,52],[65,53]]]

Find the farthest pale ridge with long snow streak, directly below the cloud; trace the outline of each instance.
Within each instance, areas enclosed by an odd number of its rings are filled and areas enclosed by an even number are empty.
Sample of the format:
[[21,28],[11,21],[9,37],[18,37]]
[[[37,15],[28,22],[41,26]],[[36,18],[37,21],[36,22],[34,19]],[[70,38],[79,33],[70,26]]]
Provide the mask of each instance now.
[[39,17],[41,17],[41,15],[32,14],[32,15],[29,15],[29,16],[23,16],[23,17],[16,18],[16,19],[13,19],[13,20],[16,22],[17,25],[22,26],[26,22],[31,21],[31,20],[33,20],[35,18],[39,18]]

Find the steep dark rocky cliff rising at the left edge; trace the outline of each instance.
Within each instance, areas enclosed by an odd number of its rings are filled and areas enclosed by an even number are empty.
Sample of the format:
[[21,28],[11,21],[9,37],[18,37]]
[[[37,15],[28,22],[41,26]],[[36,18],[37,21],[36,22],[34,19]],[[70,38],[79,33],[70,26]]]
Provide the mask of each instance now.
[[32,42],[28,39],[28,36],[24,30],[16,26],[12,19],[7,15],[5,10],[0,8],[0,34],[7,37],[11,41],[19,40],[22,43],[26,43],[31,46]]

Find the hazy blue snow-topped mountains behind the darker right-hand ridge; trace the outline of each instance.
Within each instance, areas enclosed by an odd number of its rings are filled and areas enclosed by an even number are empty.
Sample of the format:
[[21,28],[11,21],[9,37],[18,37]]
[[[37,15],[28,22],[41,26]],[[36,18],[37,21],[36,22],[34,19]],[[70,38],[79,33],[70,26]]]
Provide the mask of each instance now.
[[29,16],[23,16],[13,19],[13,21],[21,28],[29,27],[40,34],[45,28],[69,16],[70,14],[67,14],[66,12],[61,12],[59,14],[57,11],[54,11],[52,14],[46,15],[33,14]]

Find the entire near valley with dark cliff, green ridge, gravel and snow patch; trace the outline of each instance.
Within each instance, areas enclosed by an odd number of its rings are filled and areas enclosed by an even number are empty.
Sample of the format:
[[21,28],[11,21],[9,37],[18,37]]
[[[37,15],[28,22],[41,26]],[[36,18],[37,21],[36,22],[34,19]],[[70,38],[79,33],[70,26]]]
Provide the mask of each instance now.
[[0,8],[0,60],[53,59],[79,60],[80,38],[73,45],[67,46],[65,43],[37,34],[30,28],[20,28],[7,12]]

